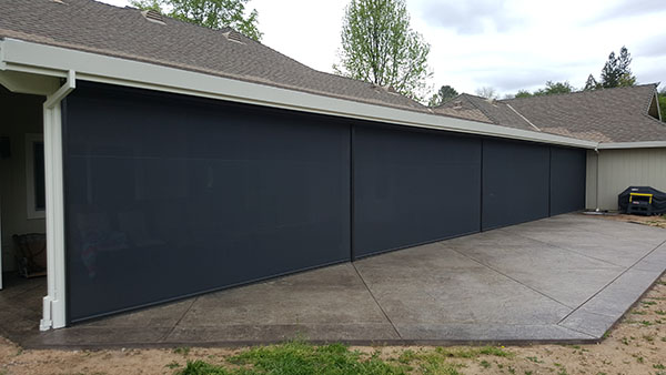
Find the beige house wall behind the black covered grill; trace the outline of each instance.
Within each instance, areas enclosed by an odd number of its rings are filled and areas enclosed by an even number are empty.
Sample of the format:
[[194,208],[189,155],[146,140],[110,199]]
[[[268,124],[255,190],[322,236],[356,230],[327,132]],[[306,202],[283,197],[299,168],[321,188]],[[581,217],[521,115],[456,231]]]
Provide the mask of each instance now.
[[587,152],[587,209],[617,210],[617,195],[632,185],[666,191],[666,148]]

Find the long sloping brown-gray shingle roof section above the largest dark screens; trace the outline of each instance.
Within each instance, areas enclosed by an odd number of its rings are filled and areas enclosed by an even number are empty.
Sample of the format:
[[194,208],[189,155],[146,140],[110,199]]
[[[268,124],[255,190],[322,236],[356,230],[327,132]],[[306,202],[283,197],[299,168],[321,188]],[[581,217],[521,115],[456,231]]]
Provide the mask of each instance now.
[[241,36],[92,0],[2,0],[0,38],[151,62],[231,79],[413,111],[428,109],[371,83],[311,69]]

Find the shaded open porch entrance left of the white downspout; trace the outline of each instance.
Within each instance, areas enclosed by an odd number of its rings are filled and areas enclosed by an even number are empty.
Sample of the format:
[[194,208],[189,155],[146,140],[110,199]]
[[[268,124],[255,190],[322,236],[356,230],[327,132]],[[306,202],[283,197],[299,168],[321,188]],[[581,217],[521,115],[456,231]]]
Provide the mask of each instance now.
[[0,85],[0,302],[32,325],[47,294],[43,101]]

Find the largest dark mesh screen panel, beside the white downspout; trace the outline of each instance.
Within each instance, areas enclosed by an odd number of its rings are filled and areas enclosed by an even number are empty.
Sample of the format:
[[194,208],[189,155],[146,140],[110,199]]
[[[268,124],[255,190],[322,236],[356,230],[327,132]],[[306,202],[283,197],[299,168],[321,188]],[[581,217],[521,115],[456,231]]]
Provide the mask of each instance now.
[[80,83],[64,109],[71,322],[350,259],[350,128]]

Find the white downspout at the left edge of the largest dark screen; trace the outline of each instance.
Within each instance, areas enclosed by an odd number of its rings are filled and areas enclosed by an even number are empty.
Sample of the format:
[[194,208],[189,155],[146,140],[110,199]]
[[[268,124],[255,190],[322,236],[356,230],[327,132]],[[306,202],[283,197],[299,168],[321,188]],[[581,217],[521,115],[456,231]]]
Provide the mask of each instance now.
[[44,181],[47,199],[47,282],[40,331],[65,325],[64,278],[64,197],[62,175],[62,115],[60,103],[77,87],[77,74],[68,71],[67,80],[43,104]]

